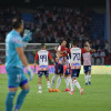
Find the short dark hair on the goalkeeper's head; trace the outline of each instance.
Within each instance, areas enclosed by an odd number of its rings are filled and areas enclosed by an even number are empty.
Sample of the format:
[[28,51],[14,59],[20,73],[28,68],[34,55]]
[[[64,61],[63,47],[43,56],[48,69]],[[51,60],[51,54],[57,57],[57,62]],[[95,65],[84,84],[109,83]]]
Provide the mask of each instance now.
[[22,23],[22,19],[20,17],[14,17],[12,19],[12,28],[13,29],[19,29],[21,23]]

